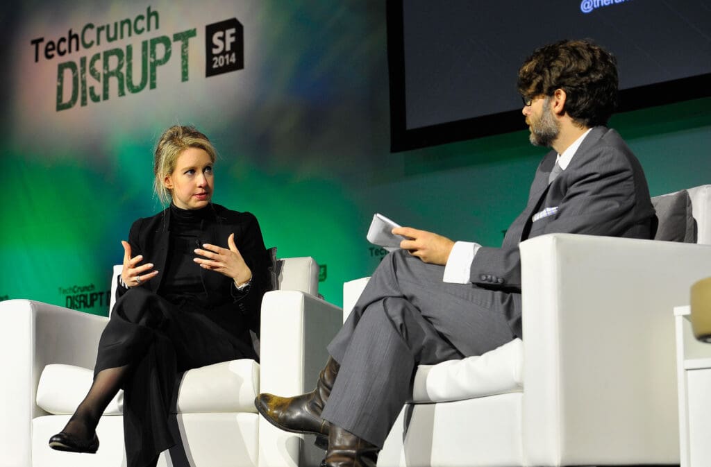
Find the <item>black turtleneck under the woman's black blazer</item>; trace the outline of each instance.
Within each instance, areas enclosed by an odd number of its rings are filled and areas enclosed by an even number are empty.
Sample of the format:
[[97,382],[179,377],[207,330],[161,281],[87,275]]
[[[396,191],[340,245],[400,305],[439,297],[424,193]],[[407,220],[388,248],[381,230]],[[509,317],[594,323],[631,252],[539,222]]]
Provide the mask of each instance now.
[[161,292],[174,304],[186,300],[203,302],[205,288],[201,279],[201,267],[193,261],[196,248],[202,248],[201,235],[205,220],[213,214],[210,205],[202,209],[188,210],[171,203],[169,229],[169,249],[166,271],[161,284]]

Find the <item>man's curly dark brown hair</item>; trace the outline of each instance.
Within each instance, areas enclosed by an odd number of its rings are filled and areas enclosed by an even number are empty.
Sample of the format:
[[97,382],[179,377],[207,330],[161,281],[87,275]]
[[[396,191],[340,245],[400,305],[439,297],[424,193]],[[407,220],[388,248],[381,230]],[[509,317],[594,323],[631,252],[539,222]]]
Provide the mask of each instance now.
[[532,98],[565,90],[565,111],[585,127],[604,125],[617,105],[617,60],[589,40],[538,48],[518,70],[518,92]]

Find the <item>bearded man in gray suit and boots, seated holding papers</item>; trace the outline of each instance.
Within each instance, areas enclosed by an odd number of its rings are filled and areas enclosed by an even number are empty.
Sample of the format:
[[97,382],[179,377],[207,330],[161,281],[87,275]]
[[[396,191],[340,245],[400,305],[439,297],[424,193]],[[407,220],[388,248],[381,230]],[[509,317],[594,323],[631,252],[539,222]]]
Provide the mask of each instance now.
[[519,242],[551,232],[651,238],[647,183],[619,134],[604,125],[617,96],[616,60],[589,41],[546,45],[523,63],[518,90],[530,141],[550,146],[528,203],[501,247],[454,242],[411,227],[375,270],[314,391],[260,394],[259,412],[313,433],[322,466],[375,466],[410,396],[417,365],[481,355],[521,331]]

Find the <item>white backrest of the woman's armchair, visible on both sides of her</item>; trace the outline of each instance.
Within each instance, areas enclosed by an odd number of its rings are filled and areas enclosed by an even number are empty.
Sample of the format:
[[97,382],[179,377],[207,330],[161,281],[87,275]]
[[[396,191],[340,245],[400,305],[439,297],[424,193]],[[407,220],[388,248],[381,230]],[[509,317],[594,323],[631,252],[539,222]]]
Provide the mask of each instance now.
[[[111,277],[111,302],[109,313],[116,301],[116,287],[121,274],[122,264],[114,265]],[[319,264],[312,257],[277,259],[274,265],[277,289],[298,290],[306,294],[319,296]]]

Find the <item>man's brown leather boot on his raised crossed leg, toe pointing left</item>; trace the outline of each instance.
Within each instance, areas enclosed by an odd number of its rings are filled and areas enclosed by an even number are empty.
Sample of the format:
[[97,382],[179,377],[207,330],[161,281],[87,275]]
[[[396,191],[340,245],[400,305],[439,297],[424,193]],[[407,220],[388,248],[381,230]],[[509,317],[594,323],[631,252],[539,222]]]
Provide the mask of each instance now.
[[279,397],[262,393],[255,399],[255,406],[262,417],[274,426],[292,433],[315,434],[316,446],[326,449],[328,422],[321,418],[321,411],[324,410],[324,404],[331,394],[340,367],[336,360],[329,357],[313,391],[295,397]]

